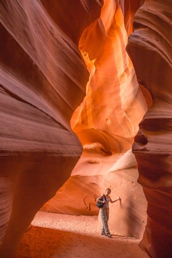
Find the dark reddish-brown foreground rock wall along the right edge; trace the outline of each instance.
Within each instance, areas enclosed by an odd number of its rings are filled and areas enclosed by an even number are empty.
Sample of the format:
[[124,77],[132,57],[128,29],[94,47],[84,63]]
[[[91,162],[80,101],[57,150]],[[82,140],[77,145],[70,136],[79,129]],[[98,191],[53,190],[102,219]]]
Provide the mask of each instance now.
[[148,201],[141,247],[152,258],[172,257],[172,2],[145,0],[127,51],[153,105],[144,115],[133,152]]

